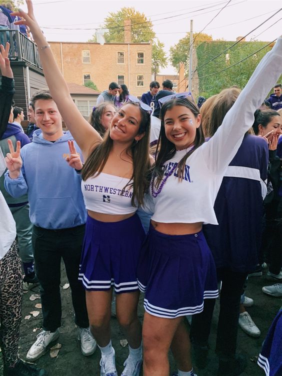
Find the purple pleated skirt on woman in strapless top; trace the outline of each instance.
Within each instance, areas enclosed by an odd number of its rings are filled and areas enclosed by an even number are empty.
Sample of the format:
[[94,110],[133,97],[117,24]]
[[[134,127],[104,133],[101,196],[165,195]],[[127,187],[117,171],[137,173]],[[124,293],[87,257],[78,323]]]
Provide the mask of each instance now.
[[79,275],[86,290],[138,290],[136,269],[145,232],[137,214],[118,222],[87,216]]

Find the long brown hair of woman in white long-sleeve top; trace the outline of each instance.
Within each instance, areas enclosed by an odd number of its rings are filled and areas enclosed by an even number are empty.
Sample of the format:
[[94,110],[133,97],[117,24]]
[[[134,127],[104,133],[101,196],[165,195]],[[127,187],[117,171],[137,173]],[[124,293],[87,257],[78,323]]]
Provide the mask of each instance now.
[[[155,168],[153,171],[153,178],[152,178],[152,184],[155,184],[156,187],[159,186],[161,179],[163,178],[164,169],[163,164],[166,160],[169,160],[173,157],[173,155],[176,152],[176,147],[173,142],[169,141],[166,138],[165,130],[164,130],[164,115],[167,110],[173,108],[174,106],[184,106],[187,107],[193,115],[196,117],[199,114],[199,109],[196,106],[196,104],[189,98],[174,98],[171,100],[168,100],[165,102],[161,109],[160,109],[160,132],[156,147],[156,160],[155,160]],[[201,124],[198,128],[196,128],[196,135],[194,139],[194,149],[191,151],[188,151],[183,158],[178,162],[178,172],[177,176],[178,178],[181,178],[184,174],[184,168],[187,157],[194,151],[197,147],[199,147],[204,142],[204,135],[201,128]],[[156,182],[154,183],[154,180]]]

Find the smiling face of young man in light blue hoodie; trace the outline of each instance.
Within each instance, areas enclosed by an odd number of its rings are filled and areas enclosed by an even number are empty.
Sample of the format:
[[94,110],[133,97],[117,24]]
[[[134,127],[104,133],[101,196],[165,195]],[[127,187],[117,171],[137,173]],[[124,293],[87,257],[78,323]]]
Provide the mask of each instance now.
[[34,114],[36,125],[42,130],[43,138],[55,141],[62,136],[61,116],[53,99],[36,99]]

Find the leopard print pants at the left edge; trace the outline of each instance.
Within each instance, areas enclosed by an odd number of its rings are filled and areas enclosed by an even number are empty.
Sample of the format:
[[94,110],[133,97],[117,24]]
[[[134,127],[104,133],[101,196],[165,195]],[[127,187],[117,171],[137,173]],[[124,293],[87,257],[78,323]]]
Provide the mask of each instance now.
[[13,365],[18,359],[21,301],[22,276],[14,241],[0,259],[0,347],[6,367]]

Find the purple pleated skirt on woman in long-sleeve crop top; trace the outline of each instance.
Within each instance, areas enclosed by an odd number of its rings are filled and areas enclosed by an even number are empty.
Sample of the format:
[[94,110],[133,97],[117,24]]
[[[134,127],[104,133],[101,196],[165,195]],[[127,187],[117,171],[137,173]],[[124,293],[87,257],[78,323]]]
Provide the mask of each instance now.
[[137,268],[146,312],[175,318],[203,310],[218,296],[216,269],[202,231],[167,235],[150,225]]

